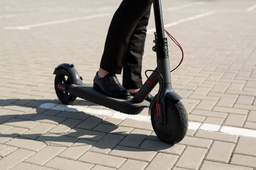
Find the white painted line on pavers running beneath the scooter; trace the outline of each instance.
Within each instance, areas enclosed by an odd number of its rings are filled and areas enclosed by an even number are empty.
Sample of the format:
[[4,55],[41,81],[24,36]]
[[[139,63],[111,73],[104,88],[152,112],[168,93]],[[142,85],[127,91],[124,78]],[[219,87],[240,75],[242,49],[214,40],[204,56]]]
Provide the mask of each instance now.
[[[72,106],[64,104],[55,104],[55,103],[45,103],[41,104],[39,108],[53,109],[53,110],[62,110],[69,112],[84,112],[91,115],[105,115],[108,117],[116,119],[132,119],[137,121],[151,122],[150,115],[128,115],[125,113],[120,113],[115,110],[106,110],[106,109],[97,109],[97,108],[88,108],[83,106]],[[250,130],[246,128],[236,128],[231,126],[219,126],[214,124],[202,124],[201,122],[192,122],[189,121],[190,130],[206,130],[210,132],[220,132],[227,133],[230,135],[239,135],[246,137],[256,137],[256,130]]]

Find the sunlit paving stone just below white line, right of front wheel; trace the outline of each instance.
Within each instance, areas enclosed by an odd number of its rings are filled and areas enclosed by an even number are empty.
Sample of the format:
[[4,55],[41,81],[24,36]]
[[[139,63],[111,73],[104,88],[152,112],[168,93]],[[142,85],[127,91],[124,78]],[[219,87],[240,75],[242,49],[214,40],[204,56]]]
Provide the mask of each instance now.
[[201,137],[205,139],[212,139],[216,141],[226,141],[231,143],[236,143],[238,136],[237,135],[228,135],[224,133],[219,132],[208,132],[204,130],[198,130],[198,132],[195,134],[195,137]]

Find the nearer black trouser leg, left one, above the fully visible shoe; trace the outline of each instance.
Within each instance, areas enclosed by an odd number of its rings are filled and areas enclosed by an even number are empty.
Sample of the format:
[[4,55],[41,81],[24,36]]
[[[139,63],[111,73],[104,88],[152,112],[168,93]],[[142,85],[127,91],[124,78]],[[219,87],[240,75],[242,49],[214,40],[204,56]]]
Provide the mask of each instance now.
[[152,0],[123,0],[112,18],[100,67],[121,74],[130,38]]

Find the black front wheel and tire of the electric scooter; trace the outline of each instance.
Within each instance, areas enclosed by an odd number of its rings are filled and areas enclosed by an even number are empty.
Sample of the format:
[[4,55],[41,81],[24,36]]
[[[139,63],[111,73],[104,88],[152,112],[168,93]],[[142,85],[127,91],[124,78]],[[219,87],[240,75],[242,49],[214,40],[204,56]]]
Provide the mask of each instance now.
[[177,144],[186,135],[188,130],[188,115],[180,100],[166,97],[166,124],[157,122],[156,96],[150,104],[151,123],[159,139],[168,144]]

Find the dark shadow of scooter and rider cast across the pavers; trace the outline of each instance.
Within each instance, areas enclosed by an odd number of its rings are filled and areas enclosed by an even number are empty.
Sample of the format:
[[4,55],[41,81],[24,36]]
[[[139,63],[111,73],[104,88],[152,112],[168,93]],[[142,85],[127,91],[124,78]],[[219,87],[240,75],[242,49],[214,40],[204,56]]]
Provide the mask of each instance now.
[[[126,151],[129,150],[128,147],[132,147],[140,148],[138,151],[145,152],[164,150],[173,146],[159,141],[155,135],[146,134],[146,130],[145,134],[137,134],[131,127],[118,126],[106,121],[107,117],[104,116],[36,106],[47,102],[61,104],[58,100],[0,99],[0,124],[9,127],[7,130],[0,129],[0,143],[16,138],[67,147],[75,146],[77,142],[100,149]],[[13,111],[16,108],[24,111]],[[31,122],[34,127],[26,125]],[[40,130],[40,126],[43,125],[49,126],[48,129]],[[24,130],[20,133],[10,133],[12,127]],[[38,132],[35,129],[38,129]]]

